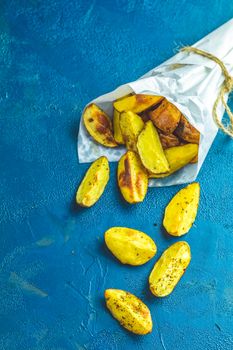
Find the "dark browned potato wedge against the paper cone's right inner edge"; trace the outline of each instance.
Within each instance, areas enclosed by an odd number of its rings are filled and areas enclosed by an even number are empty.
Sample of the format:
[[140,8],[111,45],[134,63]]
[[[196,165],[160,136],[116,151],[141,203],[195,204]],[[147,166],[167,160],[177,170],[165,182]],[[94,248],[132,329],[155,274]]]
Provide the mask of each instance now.
[[186,142],[199,144],[199,131],[194,128],[183,115],[181,115],[180,122],[174,133]]

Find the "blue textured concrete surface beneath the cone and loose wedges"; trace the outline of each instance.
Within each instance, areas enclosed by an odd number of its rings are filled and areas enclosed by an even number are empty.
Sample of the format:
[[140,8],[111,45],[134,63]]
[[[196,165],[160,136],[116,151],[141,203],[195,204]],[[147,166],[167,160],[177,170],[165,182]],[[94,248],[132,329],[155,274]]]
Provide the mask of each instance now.
[[[0,3],[0,349],[232,350],[233,141],[219,134],[198,180],[201,204],[185,239],[192,262],[156,299],[148,274],[172,242],[163,211],[180,187],[150,188],[130,206],[116,164],[99,202],[77,209],[80,113],[233,16],[228,0],[2,0]],[[233,106],[232,106],[233,107]],[[123,266],[103,243],[110,226],[147,232],[155,259]],[[106,288],[150,307],[152,334],[135,336],[106,311]]]

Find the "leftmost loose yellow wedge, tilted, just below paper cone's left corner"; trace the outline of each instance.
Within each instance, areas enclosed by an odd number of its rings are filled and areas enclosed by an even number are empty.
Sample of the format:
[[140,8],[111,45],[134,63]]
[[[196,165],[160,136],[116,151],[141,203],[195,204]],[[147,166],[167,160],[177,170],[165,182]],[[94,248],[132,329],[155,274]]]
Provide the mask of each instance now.
[[78,188],[77,204],[83,207],[91,207],[98,201],[108,183],[109,171],[109,163],[106,157],[100,157],[92,163]]

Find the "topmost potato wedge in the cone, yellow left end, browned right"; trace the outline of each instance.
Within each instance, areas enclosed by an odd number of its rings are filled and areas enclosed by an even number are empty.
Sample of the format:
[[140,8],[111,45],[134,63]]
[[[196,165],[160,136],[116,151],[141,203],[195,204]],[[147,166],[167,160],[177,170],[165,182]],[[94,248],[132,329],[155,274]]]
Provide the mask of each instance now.
[[115,101],[113,106],[118,112],[132,111],[134,113],[141,113],[158,104],[162,99],[162,96],[136,94]]

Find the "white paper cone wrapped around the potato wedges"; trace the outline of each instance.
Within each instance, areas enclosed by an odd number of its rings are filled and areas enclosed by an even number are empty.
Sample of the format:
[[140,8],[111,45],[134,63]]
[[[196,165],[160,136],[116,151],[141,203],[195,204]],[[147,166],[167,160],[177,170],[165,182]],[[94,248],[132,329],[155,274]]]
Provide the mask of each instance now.
[[[232,74],[233,19],[192,46],[220,58],[225,63],[229,73]],[[122,85],[91,102],[96,103],[109,116],[113,115],[112,102],[130,92],[162,95],[176,105],[190,123],[200,131],[198,162],[185,166],[167,178],[151,179],[150,186],[184,184],[196,179],[218,132],[212,117],[212,110],[223,80],[221,68],[215,62],[194,53],[179,52],[138,80]],[[223,113],[224,108],[220,106],[218,109],[220,118],[222,118]],[[87,134],[81,118],[78,135],[80,163],[92,162],[103,155],[109,161],[114,162],[118,161],[124,153],[124,147],[106,148],[93,141]]]

